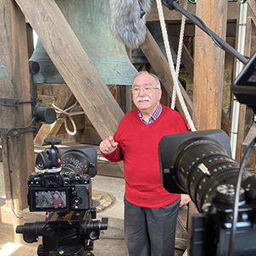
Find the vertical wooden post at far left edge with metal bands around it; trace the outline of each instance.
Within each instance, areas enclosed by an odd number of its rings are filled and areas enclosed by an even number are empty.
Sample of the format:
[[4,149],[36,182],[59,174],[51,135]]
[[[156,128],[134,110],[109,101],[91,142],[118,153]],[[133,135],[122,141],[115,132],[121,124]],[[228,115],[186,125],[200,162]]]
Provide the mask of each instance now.
[[24,129],[9,129],[25,127],[31,123],[31,103],[22,103],[30,102],[31,93],[25,16],[12,0],[0,1],[0,31],[0,56],[6,70],[6,76],[0,79],[0,95],[7,100],[19,100],[17,106],[4,105],[3,101],[0,105],[6,202],[9,207],[12,190],[15,209],[25,209],[26,179],[35,170],[33,134],[32,131],[24,132]]

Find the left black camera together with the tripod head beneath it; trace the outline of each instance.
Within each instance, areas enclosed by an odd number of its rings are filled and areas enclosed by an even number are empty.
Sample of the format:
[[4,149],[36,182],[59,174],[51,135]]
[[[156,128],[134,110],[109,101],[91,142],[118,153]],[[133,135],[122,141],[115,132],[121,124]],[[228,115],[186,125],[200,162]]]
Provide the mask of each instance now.
[[93,147],[56,147],[58,139],[36,156],[36,171],[28,178],[31,212],[48,212],[46,221],[18,225],[25,242],[42,236],[39,256],[93,255],[94,240],[108,228],[108,218],[96,219],[92,203],[92,177],[97,175],[97,151]]

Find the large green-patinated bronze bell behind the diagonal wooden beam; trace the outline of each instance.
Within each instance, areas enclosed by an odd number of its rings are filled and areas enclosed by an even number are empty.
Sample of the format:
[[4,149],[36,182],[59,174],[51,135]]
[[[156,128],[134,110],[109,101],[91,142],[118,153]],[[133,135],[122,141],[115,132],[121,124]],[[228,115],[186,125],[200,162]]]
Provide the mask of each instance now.
[[[125,46],[109,27],[107,0],[56,0],[92,64],[107,85],[131,85],[137,74]],[[35,83],[65,83],[38,40],[31,59],[40,65]]]

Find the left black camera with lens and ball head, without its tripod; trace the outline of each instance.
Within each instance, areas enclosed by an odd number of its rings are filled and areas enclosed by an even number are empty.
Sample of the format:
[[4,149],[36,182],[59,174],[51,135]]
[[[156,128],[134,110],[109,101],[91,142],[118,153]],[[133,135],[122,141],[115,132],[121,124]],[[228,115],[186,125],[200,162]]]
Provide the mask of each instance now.
[[93,147],[55,147],[58,140],[36,157],[36,168],[28,178],[31,212],[75,211],[92,208],[91,177],[97,174],[97,152]]

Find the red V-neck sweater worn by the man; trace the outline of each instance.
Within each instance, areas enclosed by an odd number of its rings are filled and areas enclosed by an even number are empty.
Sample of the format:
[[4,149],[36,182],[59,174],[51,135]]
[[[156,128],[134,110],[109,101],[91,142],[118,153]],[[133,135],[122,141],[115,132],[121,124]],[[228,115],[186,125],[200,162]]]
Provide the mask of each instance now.
[[125,199],[140,207],[159,208],[180,197],[162,186],[158,147],[163,136],[186,132],[188,128],[181,114],[162,107],[159,118],[150,125],[139,119],[137,109],[125,114],[114,134],[117,149],[103,153],[110,162],[124,160]]

